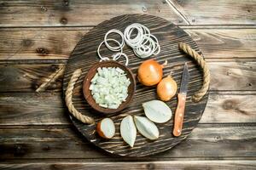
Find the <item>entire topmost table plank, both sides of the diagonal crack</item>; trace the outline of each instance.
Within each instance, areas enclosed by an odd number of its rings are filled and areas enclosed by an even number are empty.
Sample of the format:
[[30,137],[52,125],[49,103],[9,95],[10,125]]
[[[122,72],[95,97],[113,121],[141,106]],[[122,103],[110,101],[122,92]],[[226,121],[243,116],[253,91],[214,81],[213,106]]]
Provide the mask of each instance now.
[[[231,7],[231,8],[230,8]],[[29,9],[28,9],[29,8]],[[8,1],[0,3],[0,26],[96,26],[119,14],[154,14],[176,24],[254,25],[255,4],[210,1]],[[86,17],[84,17],[86,16]]]

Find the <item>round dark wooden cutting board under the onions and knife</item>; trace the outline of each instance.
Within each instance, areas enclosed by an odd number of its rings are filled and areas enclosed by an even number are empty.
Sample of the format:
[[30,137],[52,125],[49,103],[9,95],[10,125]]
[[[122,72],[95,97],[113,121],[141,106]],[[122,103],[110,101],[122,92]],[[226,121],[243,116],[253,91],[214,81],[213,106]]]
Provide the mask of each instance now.
[[[198,103],[191,101],[191,96],[201,88],[202,71],[200,67],[195,64],[193,59],[178,49],[177,43],[186,42],[190,47],[199,52],[199,54],[201,54],[201,52],[196,43],[185,31],[173,25],[172,22],[168,20],[146,14],[125,14],[111,20],[106,20],[84,35],[74,48],[73,53],[67,62],[63,81],[63,91],[65,94],[67,83],[69,82],[73,71],[81,68],[83,70],[83,74],[79,77],[79,81],[76,83],[73,90],[73,105],[84,115],[94,117],[96,122],[101,120],[103,117],[106,117],[104,114],[94,111],[90,108],[90,105],[86,103],[82,90],[84,76],[92,65],[99,62],[96,49],[100,42],[102,42],[106,32],[111,29],[124,31],[125,27],[132,23],[141,23],[144,26],[147,26],[151,33],[158,38],[161,48],[160,54],[157,56],[153,55],[150,59],[156,59],[159,63],[163,63],[165,60],[168,61],[168,65],[164,69],[164,74],[166,76],[172,71],[172,77],[177,82],[178,89],[180,87],[183,65],[185,62],[188,62],[189,89],[184,114],[183,134],[180,137],[174,137],[172,135],[173,117],[177,106],[177,98],[175,97],[171,99],[171,101],[166,102],[172,110],[172,120],[166,123],[156,124],[160,129],[159,139],[150,141],[137,132],[137,139],[134,147],[131,148],[128,144],[125,144],[119,133],[121,120],[127,115],[143,116],[142,104],[152,99],[157,99],[155,87],[145,87],[139,82],[137,82],[137,90],[131,104],[118,114],[108,115],[108,117],[113,119],[116,127],[116,133],[113,139],[102,139],[97,135],[95,125],[85,125],[73,116],[70,117],[75,127],[79,129],[79,132],[81,132],[91,143],[102,148],[102,150],[106,150],[119,156],[148,156],[160,153],[164,150],[169,150],[176,144],[182,142],[183,139],[191,133],[192,129],[196,127],[207,105],[208,94],[205,95]],[[120,37],[114,37],[113,35],[113,38]],[[137,58],[137,56],[133,54],[131,48],[126,46],[124,48],[124,53],[129,57],[128,67],[134,74],[136,74],[138,66],[145,59]],[[113,52],[102,46],[101,54],[102,56],[111,56]],[[120,59],[120,62],[124,63],[124,60]]]

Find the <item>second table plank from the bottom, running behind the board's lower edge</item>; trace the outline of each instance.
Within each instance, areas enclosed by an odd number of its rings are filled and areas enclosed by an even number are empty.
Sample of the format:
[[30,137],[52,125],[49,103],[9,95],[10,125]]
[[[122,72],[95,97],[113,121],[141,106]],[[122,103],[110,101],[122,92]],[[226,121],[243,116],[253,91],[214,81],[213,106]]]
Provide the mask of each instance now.
[[[0,127],[0,159],[107,158],[109,154],[89,144],[70,127]],[[207,124],[195,127],[188,139],[160,155],[140,158],[255,157],[255,126]],[[119,156],[112,156],[119,157]],[[116,161],[122,160],[115,158]],[[135,161],[137,158],[127,158]]]

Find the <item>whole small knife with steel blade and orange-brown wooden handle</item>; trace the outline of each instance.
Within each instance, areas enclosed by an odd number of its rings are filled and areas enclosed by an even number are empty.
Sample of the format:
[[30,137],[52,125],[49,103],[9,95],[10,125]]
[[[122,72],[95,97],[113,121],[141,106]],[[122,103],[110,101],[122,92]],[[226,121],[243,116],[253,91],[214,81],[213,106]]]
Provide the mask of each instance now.
[[174,128],[172,132],[174,136],[180,136],[182,133],[183,116],[185,111],[188,83],[189,83],[189,70],[188,70],[187,63],[185,63],[183,67],[183,76],[181,80],[179,93],[177,94],[177,109],[175,111]]

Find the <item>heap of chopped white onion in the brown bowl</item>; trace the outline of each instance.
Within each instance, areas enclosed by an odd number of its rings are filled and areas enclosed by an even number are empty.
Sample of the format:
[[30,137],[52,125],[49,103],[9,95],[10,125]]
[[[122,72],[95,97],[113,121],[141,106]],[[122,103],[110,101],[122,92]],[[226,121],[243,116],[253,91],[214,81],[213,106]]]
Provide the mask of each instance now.
[[90,93],[96,104],[117,109],[128,96],[130,79],[119,67],[100,67],[90,80]]

